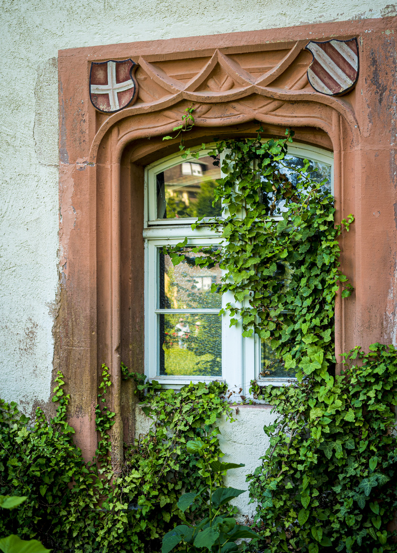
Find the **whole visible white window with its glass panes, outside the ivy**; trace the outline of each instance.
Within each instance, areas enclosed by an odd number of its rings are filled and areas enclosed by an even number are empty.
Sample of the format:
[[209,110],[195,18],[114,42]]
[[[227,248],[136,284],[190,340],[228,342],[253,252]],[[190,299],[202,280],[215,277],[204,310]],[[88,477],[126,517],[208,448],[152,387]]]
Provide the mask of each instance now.
[[[327,179],[332,191],[333,154],[301,144],[289,145],[285,165],[303,166],[311,160],[310,173],[319,181]],[[221,164],[220,164],[221,165]],[[288,174],[288,168],[283,169]],[[314,173],[315,171],[315,173]],[[211,293],[220,282],[218,265],[202,269],[195,265],[192,251],[197,246],[217,247],[219,236],[208,227],[192,231],[200,216],[221,216],[222,206],[212,206],[219,165],[207,152],[199,159],[182,160],[174,155],[146,168],[145,172],[145,371],[165,387],[225,379],[229,386],[247,395],[253,378],[283,384],[293,374],[272,358],[268,343],[255,336],[242,337],[237,324],[229,326],[219,311],[232,296]],[[293,178],[293,177],[292,177]],[[278,205],[273,218],[280,218]],[[185,259],[174,266],[163,252],[187,238]],[[271,373],[261,376],[266,359]]]

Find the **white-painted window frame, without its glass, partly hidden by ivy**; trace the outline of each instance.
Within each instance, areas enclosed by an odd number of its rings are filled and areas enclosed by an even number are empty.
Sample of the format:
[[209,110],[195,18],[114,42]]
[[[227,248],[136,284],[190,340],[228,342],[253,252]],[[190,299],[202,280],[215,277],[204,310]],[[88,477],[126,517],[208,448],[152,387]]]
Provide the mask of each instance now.
[[[208,150],[200,152],[199,157],[208,155]],[[288,155],[319,161],[331,166],[331,192],[334,194],[334,154],[308,144],[289,144]],[[230,316],[222,315],[222,376],[168,376],[158,374],[159,350],[157,335],[157,248],[167,244],[176,244],[188,238],[189,246],[219,244],[219,234],[209,227],[199,227],[192,231],[190,225],[195,218],[157,220],[156,175],[181,163],[197,163],[195,158],[182,159],[173,154],[156,161],[145,169],[145,374],[151,380],[157,380],[165,388],[177,389],[190,382],[210,382],[225,380],[231,390],[235,390],[231,400],[240,400],[240,395],[248,397],[250,382],[256,379],[261,384],[276,386],[288,384],[291,378],[259,377],[261,362],[261,341],[257,335],[242,337],[242,325],[230,327]],[[281,216],[272,217],[279,219]],[[234,302],[231,293],[223,294],[222,306]],[[179,310],[174,310],[179,312]],[[183,312],[183,311],[181,311]],[[241,388],[241,392],[239,392]]]

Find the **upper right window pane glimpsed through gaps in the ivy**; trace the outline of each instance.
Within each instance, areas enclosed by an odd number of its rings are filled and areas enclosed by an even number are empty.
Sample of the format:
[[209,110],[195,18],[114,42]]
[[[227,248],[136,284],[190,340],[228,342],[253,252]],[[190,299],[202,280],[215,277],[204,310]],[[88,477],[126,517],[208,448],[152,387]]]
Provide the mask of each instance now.
[[[301,169],[304,166],[304,158],[298,158],[294,155],[287,155],[279,164],[279,171],[286,175],[293,187],[297,185],[298,175],[293,169]],[[321,161],[310,161],[307,174],[314,182],[322,182],[325,180],[322,189],[331,194],[331,165],[322,163]],[[265,181],[262,178],[263,182]],[[285,207],[285,200],[276,201],[273,198],[273,192],[263,192],[263,196],[267,197],[267,201],[270,207],[269,215],[280,215],[282,212],[287,211]],[[272,202],[275,202],[274,204]]]

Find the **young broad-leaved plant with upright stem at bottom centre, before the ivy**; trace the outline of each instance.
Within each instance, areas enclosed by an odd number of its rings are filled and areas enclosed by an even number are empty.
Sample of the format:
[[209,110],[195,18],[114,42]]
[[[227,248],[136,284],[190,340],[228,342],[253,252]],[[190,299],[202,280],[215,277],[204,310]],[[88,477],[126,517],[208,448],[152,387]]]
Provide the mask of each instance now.
[[[205,487],[197,492],[181,495],[178,501],[178,508],[183,513],[181,518],[186,524],[179,524],[163,537],[161,553],[170,553],[174,547],[180,544],[183,544],[183,551],[187,553],[240,551],[236,540],[243,538],[257,539],[259,536],[250,528],[237,525],[234,518],[230,517],[227,512],[224,514],[222,512],[225,505],[231,499],[239,497],[239,495],[244,493],[244,490],[231,487],[218,487],[214,489],[213,482],[218,479],[219,473],[225,472],[230,468],[244,467],[244,465],[211,461],[208,445],[199,438],[188,441],[186,449],[188,453],[197,453],[199,455],[209,474],[208,500],[207,494],[205,494],[207,492]],[[188,509],[194,511],[197,505],[203,507],[204,510],[208,510],[208,517],[199,519],[198,524],[189,524],[184,513]]]

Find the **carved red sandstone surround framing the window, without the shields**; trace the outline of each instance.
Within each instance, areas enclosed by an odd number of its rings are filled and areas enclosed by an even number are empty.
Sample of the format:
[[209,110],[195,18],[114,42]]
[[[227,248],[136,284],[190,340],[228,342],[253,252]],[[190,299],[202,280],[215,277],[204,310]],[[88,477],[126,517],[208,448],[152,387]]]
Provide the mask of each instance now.
[[[336,303],[336,352],[395,340],[396,64],[394,18],[62,50],[60,82],[61,303],[55,369],[72,394],[78,445],[92,457],[97,378],[112,374],[112,459],[134,435],[131,383],[120,359],[144,363],[144,167],[177,151],[162,142],[195,107],[187,144],[292,127],[298,142],[334,151],[336,220],[354,285]],[[315,92],[309,40],[357,37],[360,75],[343,97]],[[91,61],[133,59],[137,101],[114,114],[89,101]]]

